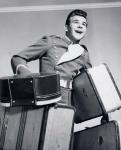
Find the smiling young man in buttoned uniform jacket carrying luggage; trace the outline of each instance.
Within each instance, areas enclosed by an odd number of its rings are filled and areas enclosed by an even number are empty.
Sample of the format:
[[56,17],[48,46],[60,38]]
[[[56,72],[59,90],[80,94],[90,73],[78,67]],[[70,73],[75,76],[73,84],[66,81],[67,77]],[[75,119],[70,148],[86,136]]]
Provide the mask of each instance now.
[[73,77],[82,68],[91,67],[88,50],[81,45],[87,31],[87,13],[73,10],[65,23],[65,37],[44,36],[35,44],[14,55],[11,65],[15,74],[30,74],[27,63],[40,60],[40,72],[60,75],[62,103],[71,104]]

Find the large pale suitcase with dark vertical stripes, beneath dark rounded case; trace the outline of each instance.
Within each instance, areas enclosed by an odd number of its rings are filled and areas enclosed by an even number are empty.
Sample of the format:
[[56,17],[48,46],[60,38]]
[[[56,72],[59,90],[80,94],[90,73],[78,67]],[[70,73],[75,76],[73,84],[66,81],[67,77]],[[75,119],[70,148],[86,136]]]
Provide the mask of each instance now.
[[72,107],[0,107],[0,112],[0,150],[70,150]]

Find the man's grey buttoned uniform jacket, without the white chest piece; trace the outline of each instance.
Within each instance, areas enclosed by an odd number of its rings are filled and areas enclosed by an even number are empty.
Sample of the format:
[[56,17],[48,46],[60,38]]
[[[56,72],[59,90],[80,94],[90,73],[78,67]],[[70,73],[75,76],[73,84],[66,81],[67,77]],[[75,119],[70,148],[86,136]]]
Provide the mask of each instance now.
[[[11,65],[13,72],[16,72],[16,67],[19,64],[27,66],[28,62],[39,59],[40,72],[58,72],[61,78],[69,80],[75,76],[81,68],[91,67],[89,53],[84,45],[81,45],[84,48],[82,55],[70,61],[57,64],[61,56],[68,50],[69,44],[71,44],[71,41],[65,37],[61,38],[55,35],[44,36],[35,44],[12,57]],[[22,67],[20,69],[20,73],[24,73]]]

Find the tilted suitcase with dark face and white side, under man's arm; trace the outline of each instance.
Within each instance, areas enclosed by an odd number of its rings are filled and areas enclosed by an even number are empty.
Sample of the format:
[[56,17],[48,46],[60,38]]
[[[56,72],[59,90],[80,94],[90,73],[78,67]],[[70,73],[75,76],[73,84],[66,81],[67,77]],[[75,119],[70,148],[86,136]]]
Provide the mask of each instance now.
[[74,78],[72,105],[76,123],[121,108],[121,95],[106,64],[84,69]]

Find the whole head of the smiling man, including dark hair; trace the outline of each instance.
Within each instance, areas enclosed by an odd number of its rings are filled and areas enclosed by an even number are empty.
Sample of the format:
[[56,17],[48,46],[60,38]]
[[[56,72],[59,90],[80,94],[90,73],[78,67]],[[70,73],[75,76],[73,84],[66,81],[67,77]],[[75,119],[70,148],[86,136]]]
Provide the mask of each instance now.
[[87,30],[87,13],[82,10],[72,11],[66,20],[66,36],[73,42],[79,43]]

